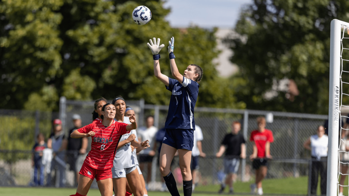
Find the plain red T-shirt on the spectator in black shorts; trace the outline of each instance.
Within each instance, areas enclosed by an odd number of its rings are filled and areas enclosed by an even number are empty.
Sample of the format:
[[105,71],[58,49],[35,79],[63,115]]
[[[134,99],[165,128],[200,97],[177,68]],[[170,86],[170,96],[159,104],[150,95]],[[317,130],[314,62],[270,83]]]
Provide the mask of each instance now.
[[269,129],[265,129],[263,132],[259,132],[258,130],[254,130],[251,133],[250,137],[251,141],[257,146],[257,157],[264,158],[265,157],[265,144],[267,142],[274,142],[273,132]]

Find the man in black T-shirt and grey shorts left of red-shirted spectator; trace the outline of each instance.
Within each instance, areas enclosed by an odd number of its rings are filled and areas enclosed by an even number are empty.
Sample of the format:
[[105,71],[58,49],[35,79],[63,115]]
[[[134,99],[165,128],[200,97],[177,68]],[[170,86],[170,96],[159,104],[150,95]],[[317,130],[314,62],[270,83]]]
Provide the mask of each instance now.
[[233,122],[231,133],[224,136],[222,145],[219,151],[216,153],[216,157],[219,158],[225,151],[223,163],[224,173],[227,175],[225,178],[225,184],[222,182],[221,189],[218,191],[218,193],[223,193],[226,184],[229,184],[229,193],[234,193],[233,181],[237,177],[240,158],[246,158],[245,138],[241,133],[239,133],[240,129],[240,122]]

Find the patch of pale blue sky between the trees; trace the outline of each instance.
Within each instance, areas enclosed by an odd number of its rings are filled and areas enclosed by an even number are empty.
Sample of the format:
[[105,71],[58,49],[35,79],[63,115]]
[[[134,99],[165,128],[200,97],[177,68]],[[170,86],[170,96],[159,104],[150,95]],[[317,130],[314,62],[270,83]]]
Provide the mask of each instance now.
[[166,0],[164,7],[171,8],[165,18],[172,27],[233,28],[240,9],[252,0]]

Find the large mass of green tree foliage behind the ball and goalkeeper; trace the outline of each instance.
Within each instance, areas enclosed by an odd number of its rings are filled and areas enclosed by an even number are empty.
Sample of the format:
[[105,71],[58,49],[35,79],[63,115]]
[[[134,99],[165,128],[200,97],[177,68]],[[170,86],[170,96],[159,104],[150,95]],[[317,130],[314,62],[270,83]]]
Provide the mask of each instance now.
[[[152,12],[142,26],[132,20],[139,5]],[[154,76],[147,42],[156,37],[168,45],[174,36],[179,70],[193,63],[203,68],[198,105],[244,108],[234,96],[236,85],[244,81],[217,77],[215,29],[171,28],[164,19],[169,12],[161,0],[3,0],[0,107],[58,110],[59,96],[122,95],[168,104],[170,94]],[[162,72],[171,76],[166,48],[160,54]]]

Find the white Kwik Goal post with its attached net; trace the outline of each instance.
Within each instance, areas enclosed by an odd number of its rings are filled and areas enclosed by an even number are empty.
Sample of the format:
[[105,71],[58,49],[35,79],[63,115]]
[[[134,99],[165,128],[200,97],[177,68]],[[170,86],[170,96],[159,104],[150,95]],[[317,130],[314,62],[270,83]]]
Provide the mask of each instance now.
[[[343,77],[342,77],[343,76]],[[349,155],[345,146],[349,146],[346,132],[347,127],[342,127],[341,111],[348,113],[349,105],[343,104],[343,99],[349,98],[349,23],[332,20],[331,46],[330,46],[330,76],[329,76],[329,112],[328,112],[328,160],[327,160],[327,195],[339,194],[340,187],[349,191],[349,184],[340,183],[342,175],[347,177],[348,171],[341,170],[349,165],[345,155]],[[345,101],[344,101],[345,102]],[[338,138],[340,137],[340,140]],[[343,148],[344,147],[344,148]]]

